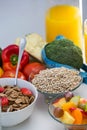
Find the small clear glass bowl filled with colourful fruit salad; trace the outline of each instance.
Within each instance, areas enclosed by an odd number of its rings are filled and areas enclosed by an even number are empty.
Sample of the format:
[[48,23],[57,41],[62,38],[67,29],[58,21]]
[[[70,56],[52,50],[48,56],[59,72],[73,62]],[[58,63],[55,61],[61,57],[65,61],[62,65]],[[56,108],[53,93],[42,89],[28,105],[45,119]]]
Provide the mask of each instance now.
[[87,130],[87,99],[66,92],[55,97],[49,104],[49,114],[65,130]]

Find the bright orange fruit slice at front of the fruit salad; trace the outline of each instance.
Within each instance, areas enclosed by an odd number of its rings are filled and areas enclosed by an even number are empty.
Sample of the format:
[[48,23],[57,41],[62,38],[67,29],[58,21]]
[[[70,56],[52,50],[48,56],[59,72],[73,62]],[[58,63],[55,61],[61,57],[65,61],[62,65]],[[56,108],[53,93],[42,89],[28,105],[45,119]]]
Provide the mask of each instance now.
[[82,124],[83,115],[82,115],[82,112],[78,108],[72,111],[71,115],[75,118],[74,124]]

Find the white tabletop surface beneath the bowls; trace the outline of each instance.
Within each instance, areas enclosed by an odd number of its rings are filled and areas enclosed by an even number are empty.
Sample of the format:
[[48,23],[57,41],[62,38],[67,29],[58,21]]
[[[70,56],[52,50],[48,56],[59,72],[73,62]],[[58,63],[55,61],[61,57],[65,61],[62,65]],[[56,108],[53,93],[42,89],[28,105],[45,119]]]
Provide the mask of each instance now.
[[[82,84],[74,93],[87,98],[87,85]],[[64,127],[49,115],[45,98],[39,93],[31,117],[17,126],[2,130],[64,130]]]

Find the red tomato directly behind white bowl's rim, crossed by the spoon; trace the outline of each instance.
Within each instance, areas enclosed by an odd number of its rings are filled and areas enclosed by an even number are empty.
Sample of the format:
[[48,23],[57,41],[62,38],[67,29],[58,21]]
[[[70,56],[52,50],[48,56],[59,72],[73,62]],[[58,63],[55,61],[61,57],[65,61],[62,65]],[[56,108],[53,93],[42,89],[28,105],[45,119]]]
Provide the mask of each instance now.
[[[5,77],[14,78],[14,77],[15,77],[15,74],[16,74],[15,70],[7,70],[7,71],[5,71],[5,72],[3,73],[2,78],[5,78]],[[21,79],[23,79],[23,80],[26,80],[25,75],[24,75],[22,72],[20,72],[20,71],[18,72],[18,78],[21,78]]]

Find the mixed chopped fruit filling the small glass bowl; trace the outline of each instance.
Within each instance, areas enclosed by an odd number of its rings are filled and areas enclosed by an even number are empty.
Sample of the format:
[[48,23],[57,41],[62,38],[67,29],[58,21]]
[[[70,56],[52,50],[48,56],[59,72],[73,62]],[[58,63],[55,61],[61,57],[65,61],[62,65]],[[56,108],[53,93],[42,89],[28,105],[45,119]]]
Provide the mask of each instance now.
[[[87,99],[73,95],[70,100],[67,100],[66,95],[64,95],[62,98],[55,99],[52,105],[54,106],[54,116],[59,118],[62,123],[87,124]],[[75,128],[75,130],[77,129]]]

